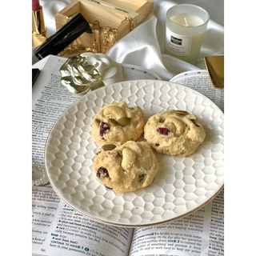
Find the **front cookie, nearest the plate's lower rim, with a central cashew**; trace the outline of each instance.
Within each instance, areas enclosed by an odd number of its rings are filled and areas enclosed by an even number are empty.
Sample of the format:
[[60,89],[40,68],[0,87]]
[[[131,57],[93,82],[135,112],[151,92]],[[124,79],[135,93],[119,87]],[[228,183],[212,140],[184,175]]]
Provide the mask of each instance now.
[[99,181],[116,193],[149,186],[158,172],[158,161],[147,142],[129,141],[121,146],[105,145],[94,159]]

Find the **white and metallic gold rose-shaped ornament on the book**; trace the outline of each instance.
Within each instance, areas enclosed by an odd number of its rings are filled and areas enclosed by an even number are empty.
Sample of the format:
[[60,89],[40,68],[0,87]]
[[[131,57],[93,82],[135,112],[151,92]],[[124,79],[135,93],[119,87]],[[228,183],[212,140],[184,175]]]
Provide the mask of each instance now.
[[61,82],[73,94],[86,94],[123,81],[122,66],[105,54],[83,53],[69,58],[60,68]]

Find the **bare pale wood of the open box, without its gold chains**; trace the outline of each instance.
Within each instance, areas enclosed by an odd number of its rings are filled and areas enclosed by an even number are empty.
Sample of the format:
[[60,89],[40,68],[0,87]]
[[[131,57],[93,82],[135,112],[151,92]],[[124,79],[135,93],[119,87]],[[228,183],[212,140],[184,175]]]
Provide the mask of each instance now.
[[[101,27],[116,29],[116,41],[143,22],[153,9],[154,1],[146,0],[74,0],[55,14],[56,29],[66,24],[70,16],[81,13],[92,24],[97,20]],[[76,41],[82,46],[92,46],[94,34],[83,33]]]

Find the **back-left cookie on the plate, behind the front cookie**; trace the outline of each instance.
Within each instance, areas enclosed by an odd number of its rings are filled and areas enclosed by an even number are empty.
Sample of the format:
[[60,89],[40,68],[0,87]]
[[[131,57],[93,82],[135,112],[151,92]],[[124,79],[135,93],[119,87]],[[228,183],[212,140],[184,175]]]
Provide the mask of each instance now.
[[114,102],[95,114],[91,134],[101,145],[136,141],[144,129],[144,113],[139,106]]

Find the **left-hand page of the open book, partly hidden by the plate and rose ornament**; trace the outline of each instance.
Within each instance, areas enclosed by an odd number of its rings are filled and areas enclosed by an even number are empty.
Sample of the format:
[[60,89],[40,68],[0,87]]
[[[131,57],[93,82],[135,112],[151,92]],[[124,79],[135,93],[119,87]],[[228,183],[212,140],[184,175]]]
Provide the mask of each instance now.
[[[71,94],[60,82],[66,58],[50,55],[33,67],[41,72],[33,86],[32,162],[43,166],[48,134],[60,115],[81,94]],[[124,65],[126,79],[158,79],[137,66]],[[32,246],[39,255],[128,255],[133,229],[107,226],[66,205],[50,186],[33,186]]]

